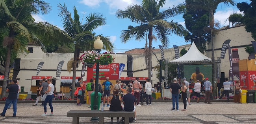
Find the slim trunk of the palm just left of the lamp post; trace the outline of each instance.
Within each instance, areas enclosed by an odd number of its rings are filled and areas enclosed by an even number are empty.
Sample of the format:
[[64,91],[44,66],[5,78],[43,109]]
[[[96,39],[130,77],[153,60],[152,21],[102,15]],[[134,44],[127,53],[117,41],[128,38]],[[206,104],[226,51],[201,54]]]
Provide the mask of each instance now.
[[74,62],[73,62],[73,76],[72,76],[72,91],[71,91],[72,99],[74,99],[74,93],[75,93],[75,87],[76,87],[76,64],[77,64],[78,54],[79,54],[79,49],[75,47]]

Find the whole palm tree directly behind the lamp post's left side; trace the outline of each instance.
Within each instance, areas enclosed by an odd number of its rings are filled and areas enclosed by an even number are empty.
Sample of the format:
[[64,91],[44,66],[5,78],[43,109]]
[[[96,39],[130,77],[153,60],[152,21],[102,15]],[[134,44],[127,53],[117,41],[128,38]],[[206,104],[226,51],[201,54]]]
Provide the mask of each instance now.
[[[72,80],[72,98],[74,98],[75,84],[76,84],[76,67],[80,61],[79,53],[80,51],[87,51],[95,49],[93,43],[96,40],[95,33],[92,33],[94,29],[99,26],[106,24],[106,18],[103,18],[102,14],[91,13],[85,18],[85,24],[82,24],[79,21],[80,16],[77,13],[77,9],[74,6],[74,18],[71,17],[71,13],[67,10],[67,6],[58,4],[59,7],[59,16],[62,18],[63,30],[67,33],[68,37],[71,38],[70,44],[75,48],[74,58],[70,60],[68,64],[68,69],[71,71],[73,67],[73,80]],[[113,51],[115,46],[110,42],[109,37],[101,36],[101,40],[104,44],[103,49],[107,51]]]

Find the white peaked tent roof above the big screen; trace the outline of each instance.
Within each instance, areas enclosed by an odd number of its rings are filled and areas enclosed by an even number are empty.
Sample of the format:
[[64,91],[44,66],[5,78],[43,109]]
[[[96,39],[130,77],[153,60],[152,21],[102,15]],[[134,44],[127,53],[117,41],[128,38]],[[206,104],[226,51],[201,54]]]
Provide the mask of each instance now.
[[211,62],[211,58],[203,55],[198,49],[195,43],[193,42],[189,50],[182,57],[170,61],[169,63],[190,63],[190,62]]

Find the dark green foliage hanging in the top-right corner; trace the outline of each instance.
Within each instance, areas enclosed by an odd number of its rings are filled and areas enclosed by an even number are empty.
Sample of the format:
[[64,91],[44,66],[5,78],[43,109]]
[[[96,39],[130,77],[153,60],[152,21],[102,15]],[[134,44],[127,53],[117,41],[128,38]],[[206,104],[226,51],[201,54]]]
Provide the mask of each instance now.
[[250,0],[251,3],[247,2],[237,3],[237,8],[244,13],[242,23],[245,24],[245,30],[252,33],[252,38],[256,40],[256,2]]

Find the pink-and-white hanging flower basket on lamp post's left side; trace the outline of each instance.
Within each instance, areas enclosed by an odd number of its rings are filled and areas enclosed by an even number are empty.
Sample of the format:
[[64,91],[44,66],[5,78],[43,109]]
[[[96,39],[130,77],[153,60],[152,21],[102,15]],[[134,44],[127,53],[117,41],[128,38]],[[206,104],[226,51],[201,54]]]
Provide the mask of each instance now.
[[96,51],[84,51],[83,55],[80,57],[81,62],[86,62],[88,65],[93,65],[99,62],[99,53]]

